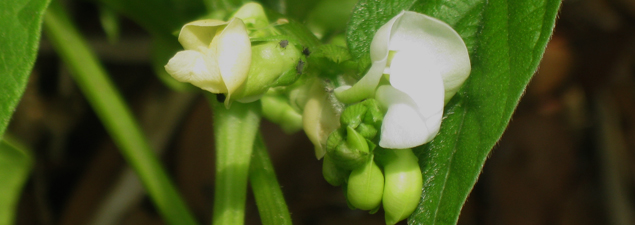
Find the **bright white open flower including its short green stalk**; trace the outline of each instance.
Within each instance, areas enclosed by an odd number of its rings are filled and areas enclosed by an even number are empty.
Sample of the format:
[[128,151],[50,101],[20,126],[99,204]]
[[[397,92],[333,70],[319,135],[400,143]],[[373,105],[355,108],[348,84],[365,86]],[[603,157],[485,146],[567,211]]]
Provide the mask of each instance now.
[[[461,37],[446,23],[404,11],[371,42],[371,68],[353,87],[335,94],[344,103],[375,97],[387,108],[379,145],[403,149],[425,144],[439,131],[443,106],[470,74]],[[390,85],[378,87],[383,74]]]

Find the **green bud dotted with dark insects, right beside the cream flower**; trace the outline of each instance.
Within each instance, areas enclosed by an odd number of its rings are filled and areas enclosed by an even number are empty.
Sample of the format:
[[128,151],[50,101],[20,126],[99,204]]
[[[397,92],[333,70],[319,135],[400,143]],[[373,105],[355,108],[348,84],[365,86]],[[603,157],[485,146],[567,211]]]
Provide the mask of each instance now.
[[[300,50],[292,43],[265,42],[251,48],[251,67],[247,80],[237,90],[239,102],[258,100],[270,87],[293,83],[298,77]],[[282,81],[281,79],[284,78]]]

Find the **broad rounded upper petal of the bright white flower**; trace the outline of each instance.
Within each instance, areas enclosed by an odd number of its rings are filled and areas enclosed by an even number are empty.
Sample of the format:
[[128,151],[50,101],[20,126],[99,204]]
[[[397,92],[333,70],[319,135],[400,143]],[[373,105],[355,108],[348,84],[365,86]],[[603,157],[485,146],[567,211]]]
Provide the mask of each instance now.
[[434,55],[432,60],[443,78],[447,102],[471,71],[470,56],[461,36],[443,21],[416,12],[404,12],[394,27],[389,49],[417,49]]

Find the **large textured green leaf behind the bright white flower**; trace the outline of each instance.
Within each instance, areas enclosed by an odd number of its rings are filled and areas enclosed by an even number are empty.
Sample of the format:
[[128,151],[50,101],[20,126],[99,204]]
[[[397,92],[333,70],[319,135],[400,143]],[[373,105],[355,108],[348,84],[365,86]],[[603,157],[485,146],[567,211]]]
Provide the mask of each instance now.
[[347,30],[355,58],[402,10],[452,26],[467,44],[472,73],[446,105],[438,136],[414,149],[424,188],[410,224],[456,224],[485,159],[503,134],[552,34],[560,0],[362,0]]

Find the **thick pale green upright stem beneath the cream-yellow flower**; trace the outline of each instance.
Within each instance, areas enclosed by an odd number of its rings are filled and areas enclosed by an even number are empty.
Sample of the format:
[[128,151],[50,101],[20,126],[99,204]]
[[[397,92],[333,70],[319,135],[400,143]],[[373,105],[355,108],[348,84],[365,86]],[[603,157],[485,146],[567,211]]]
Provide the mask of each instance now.
[[254,140],[260,125],[260,103],[235,102],[229,109],[209,94],[214,107],[216,139],[216,187],[214,225],[241,225],[245,222],[247,177]]

